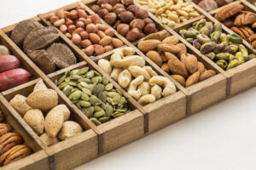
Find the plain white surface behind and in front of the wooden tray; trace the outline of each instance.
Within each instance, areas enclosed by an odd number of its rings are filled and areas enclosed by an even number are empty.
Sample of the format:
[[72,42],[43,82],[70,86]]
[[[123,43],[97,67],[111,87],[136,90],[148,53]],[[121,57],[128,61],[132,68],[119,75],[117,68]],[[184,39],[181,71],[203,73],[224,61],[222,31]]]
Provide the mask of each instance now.
[[[73,2],[0,0],[0,27]],[[255,109],[252,88],[76,169],[256,169]]]

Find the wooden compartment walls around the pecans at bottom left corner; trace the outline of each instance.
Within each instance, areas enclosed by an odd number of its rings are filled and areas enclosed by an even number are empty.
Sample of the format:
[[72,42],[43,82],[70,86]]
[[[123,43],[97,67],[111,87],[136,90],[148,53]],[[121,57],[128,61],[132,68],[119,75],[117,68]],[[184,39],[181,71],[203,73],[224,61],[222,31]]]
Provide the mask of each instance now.
[[26,124],[23,119],[20,119],[19,114],[12,108],[8,101],[0,94],[0,111],[5,116],[5,122],[12,127],[12,132],[20,133],[24,144],[29,146],[33,153],[30,156],[26,156],[19,161],[10,163],[9,165],[1,167],[3,170],[13,169],[49,169],[49,159],[44,149],[44,144],[38,138],[37,134]]

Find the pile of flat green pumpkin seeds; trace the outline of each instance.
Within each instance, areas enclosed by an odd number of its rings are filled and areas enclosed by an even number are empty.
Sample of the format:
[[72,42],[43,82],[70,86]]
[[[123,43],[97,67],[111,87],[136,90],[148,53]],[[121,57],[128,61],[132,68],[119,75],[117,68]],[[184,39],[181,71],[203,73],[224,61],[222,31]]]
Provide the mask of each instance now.
[[55,84],[96,125],[131,111],[125,97],[113,88],[108,77],[89,67],[66,71]]

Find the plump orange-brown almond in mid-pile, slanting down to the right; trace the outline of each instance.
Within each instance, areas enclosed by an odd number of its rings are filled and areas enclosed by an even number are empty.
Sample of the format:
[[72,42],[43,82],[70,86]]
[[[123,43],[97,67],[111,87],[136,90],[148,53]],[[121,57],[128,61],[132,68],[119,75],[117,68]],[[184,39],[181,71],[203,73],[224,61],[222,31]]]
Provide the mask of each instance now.
[[180,62],[178,59],[169,59],[167,65],[170,71],[172,71],[172,74],[177,74],[184,78],[189,77],[189,74],[185,68],[185,65],[183,65],[183,63]]

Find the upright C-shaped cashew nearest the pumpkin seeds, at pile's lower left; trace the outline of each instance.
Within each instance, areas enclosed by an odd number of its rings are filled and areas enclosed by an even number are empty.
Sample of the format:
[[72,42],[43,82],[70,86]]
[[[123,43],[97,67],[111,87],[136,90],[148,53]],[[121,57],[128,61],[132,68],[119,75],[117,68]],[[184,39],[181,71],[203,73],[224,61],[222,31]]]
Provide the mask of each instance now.
[[130,94],[134,99],[139,99],[141,97],[141,92],[137,90],[137,86],[140,85],[144,81],[143,76],[136,77],[133,81],[131,81],[130,86],[128,88],[128,94]]

